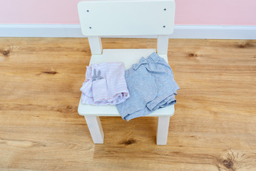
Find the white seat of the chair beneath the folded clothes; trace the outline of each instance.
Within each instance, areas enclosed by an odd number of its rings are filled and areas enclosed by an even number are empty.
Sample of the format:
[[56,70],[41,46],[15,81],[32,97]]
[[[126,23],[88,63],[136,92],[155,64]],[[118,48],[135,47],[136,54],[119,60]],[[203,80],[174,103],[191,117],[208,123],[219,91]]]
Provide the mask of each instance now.
[[[90,65],[93,63],[111,63],[111,62],[123,62],[125,63],[125,69],[129,69],[134,63],[138,63],[140,58],[143,56],[147,58],[151,53],[155,52],[155,49],[103,49],[101,55],[92,55]],[[167,55],[160,55],[168,62]],[[78,105],[79,115],[95,115],[95,116],[121,116],[118,113],[116,105],[86,105],[80,103]],[[150,113],[146,116],[171,116],[174,114],[174,105],[169,105],[166,108],[160,108],[155,112]]]

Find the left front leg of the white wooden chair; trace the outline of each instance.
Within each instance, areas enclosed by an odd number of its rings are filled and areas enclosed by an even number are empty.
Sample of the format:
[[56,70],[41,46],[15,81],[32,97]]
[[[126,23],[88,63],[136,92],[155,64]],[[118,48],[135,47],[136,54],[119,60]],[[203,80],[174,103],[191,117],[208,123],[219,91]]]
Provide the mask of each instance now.
[[91,133],[91,138],[95,144],[103,144],[104,133],[101,126],[101,120],[98,116],[84,116]]

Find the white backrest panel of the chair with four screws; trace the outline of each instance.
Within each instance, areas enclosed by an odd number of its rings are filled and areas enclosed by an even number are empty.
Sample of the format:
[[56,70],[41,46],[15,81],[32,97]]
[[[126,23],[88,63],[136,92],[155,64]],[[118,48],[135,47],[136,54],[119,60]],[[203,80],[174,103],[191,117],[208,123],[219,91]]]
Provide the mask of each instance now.
[[174,0],[80,1],[83,35],[167,35],[173,33]]

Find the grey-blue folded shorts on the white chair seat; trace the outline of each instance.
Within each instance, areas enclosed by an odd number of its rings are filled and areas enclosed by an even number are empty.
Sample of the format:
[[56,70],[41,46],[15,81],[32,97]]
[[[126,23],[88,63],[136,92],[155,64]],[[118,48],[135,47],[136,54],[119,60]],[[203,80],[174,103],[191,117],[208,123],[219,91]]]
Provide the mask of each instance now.
[[155,52],[126,71],[126,83],[130,98],[116,107],[127,121],[173,105],[180,89],[168,63]]

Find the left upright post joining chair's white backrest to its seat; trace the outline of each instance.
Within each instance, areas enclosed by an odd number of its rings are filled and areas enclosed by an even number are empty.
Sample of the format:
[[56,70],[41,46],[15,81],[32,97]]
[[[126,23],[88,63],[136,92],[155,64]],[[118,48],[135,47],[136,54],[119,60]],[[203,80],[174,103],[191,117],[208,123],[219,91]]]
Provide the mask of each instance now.
[[88,36],[88,41],[92,55],[99,55],[102,53],[102,43],[100,36]]

